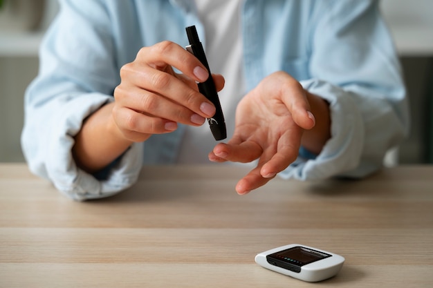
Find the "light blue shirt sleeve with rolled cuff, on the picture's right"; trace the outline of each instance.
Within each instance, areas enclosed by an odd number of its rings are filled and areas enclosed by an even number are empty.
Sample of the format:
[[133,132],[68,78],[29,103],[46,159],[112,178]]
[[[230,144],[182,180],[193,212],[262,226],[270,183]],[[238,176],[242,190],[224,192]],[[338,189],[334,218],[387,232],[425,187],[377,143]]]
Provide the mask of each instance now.
[[311,32],[312,78],[301,84],[329,102],[331,139],[315,157],[300,153],[282,177],[365,177],[408,132],[400,64],[378,1],[326,5]]

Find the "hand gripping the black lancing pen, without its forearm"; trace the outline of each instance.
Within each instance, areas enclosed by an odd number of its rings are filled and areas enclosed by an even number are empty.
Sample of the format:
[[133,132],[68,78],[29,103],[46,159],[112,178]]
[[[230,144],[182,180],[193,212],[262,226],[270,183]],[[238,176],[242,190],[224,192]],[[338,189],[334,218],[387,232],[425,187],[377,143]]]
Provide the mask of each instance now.
[[[183,74],[175,73],[173,67]],[[196,85],[208,79],[208,70],[173,42],[141,48],[136,59],[121,68],[120,77],[112,117],[120,135],[130,142],[175,131],[178,123],[201,126],[215,113],[212,102]],[[216,89],[221,90],[223,77],[212,77]]]

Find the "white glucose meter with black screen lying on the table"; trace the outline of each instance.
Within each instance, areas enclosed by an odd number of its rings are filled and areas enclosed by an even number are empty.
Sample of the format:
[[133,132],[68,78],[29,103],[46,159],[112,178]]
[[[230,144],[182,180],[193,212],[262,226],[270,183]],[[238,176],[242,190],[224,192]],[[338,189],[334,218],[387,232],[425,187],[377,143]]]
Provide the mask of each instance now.
[[317,282],[335,276],[344,263],[344,257],[300,244],[261,252],[255,262],[262,267],[307,282]]

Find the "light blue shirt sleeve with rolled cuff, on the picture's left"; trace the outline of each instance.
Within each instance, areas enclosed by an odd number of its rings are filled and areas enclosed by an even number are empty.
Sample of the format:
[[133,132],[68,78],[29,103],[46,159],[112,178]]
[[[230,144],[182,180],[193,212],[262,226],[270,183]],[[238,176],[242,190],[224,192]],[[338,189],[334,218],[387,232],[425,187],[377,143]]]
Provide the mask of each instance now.
[[113,101],[120,82],[109,21],[102,2],[61,1],[39,51],[39,75],[26,90],[21,146],[30,171],[75,200],[126,189],[142,165],[142,144],[98,175],[79,169],[71,155],[84,119]]

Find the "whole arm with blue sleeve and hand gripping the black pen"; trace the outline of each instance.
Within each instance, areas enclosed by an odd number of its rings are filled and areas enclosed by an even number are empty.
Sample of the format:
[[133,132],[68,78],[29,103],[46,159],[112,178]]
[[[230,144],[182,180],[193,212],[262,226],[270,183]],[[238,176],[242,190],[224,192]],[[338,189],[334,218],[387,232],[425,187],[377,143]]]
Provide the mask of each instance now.
[[[41,47],[39,75],[26,91],[21,141],[30,170],[77,200],[131,186],[142,165],[142,141],[175,130],[176,123],[199,126],[212,114],[196,90],[199,61],[169,41],[140,50],[145,42],[131,27],[149,27],[153,39],[159,34],[152,34],[153,23],[134,20],[132,8],[129,2],[62,0]],[[215,79],[223,85],[221,76]]]

